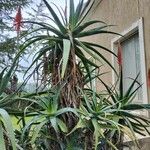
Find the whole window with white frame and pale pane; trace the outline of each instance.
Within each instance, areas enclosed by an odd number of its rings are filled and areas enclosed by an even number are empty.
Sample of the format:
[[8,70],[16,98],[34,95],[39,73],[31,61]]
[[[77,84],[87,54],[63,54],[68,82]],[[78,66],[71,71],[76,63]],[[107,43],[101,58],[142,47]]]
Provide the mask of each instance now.
[[[145,67],[145,52],[144,52],[144,37],[143,37],[143,19],[133,23],[130,28],[121,33],[123,37],[116,37],[112,40],[112,50],[117,50],[117,42],[120,41],[122,46],[123,57],[123,76],[124,76],[124,91],[130,86],[132,80],[138,73],[138,82],[142,83],[142,88],[138,90],[135,97],[135,103],[148,103],[147,84],[146,84],[146,67]],[[116,66],[116,61],[112,57],[113,65]],[[115,73],[112,74],[113,82],[115,82]],[[134,87],[136,88],[136,86]]]

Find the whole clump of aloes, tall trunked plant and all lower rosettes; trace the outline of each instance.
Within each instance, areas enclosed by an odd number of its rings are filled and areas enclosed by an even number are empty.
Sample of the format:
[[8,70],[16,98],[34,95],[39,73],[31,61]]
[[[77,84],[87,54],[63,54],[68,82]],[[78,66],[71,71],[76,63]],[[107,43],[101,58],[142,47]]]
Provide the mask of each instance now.
[[[5,73],[4,69],[0,73],[0,107],[18,118],[20,129],[15,131],[18,147],[29,150],[118,150],[123,147],[125,135],[138,145],[136,133],[143,136],[146,132],[150,134],[150,120],[133,113],[136,110],[150,109],[149,104],[133,103],[141,87],[137,82],[139,75],[126,92],[123,91],[122,68],[119,70],[117,83],[113,86],[107,85],[101,79],[106,73],[101,72],[101,65],[98,64],[104,61],[116,74],[118,73],[99,50],[115,57],[116,54],[85,39],[97,34],[117,33],[108,31],[109,25],[102,21],[86,20],[94,4],[90,0],[86,3],[80,0],[76,7],[74,1],[70,0],[69,14],[68,10],[63,11],[54,4],[59,15],[46,0],[43,2],[51,15],[47,18],[55,25],[25,21],[24,23],[38,25],[38,28],[23,35],[29,38],[19,46],[20,51],[10,70]],[[44,85],[49,85],[47,90],[2,95],[19,58],[30,46],[35,46],[34,58],[26,73],[32,67],[34,71],[31,75],[42,71],[41,81]],[[96,91],[93,80],[104,85],[105,95],[101,91]],[[136,84],[138,86],[135,89]],[[13,103],[21,104],[22,101],[24,105],[18,110],[10,107]],[[3,138],[6,130],[13,149],[16,149],[10,117],[2,108],[0,115],[0,146],[6,149],[6,140]]]

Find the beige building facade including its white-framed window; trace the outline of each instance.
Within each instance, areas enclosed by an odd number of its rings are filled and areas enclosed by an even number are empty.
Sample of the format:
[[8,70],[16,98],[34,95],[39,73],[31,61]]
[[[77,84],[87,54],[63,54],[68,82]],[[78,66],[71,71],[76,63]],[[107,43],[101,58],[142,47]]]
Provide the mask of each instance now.
[[[89,18],[114,25],[109,27],[109,31],[122,35],[101,34],[90,38],[90,41],[96,41],[115,53],[117,53],[118,43],[120,43],[125,76],[124,91],[130,84],[130,80],[127,78],[135,78],[140,73],[138,81],[143,85],[138,91],[136,103],[150,103],[150,88],[147,78],[150,68],[150,0],[95,0]],[[103,50],[100,51],[117,69],[117,60]],[[110,71],[108,65],[103,69]],[[105,75],[103,80],[113,83],[115,74],[112,72]],[[99,83],[96,86],[101,89]],[[146,145],[143,145],[143,150],[147,150]]]

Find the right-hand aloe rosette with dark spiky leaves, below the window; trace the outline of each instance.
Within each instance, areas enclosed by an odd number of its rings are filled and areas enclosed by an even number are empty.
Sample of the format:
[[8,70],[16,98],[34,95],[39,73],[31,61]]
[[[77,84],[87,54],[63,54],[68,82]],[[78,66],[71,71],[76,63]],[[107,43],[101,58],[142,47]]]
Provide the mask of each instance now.
[[[120,70],[119,84],[118,81],[115,86],[108,86],[103,80],[100,81],[105,86],[107,92],[109,93],[109,102],[110,107],[106,111],[111,113],[112,115],[117,115],[121,118],[118,119],[118,123],[124,127],[128,128],[131,135],[129,138],[134,142],[137,147],[139,146],[137,140],[137,134],[141,136],[149,135],[149,127],[150,127],[150,119],[145,115],[138,115],[135,111],[148,111],[150,109],[150,104],[139,104],[135,103],[134,99],[138,90],[141,88],[141,84],[138,82],[139,74],[133,80],[131,85],[128,87],[127,91],[123,90],[123,74],[122,68]],[[119,86],[117,86],[119,85]],[[119,89],[118,89],[119,88]],[[127,133],[126,130],[121,131],[121,136],[119,136],[119,132],[112,132],[108,130],[106,133],[108,135],[108,139],[111,139],[112,142],[119,148],[123,149],[123,140],[124,135]],[[113,135],[112,135],[113,133]],[[133,138],[132,138],[133,137]],[[119,141],[119,143],[117,143]]]

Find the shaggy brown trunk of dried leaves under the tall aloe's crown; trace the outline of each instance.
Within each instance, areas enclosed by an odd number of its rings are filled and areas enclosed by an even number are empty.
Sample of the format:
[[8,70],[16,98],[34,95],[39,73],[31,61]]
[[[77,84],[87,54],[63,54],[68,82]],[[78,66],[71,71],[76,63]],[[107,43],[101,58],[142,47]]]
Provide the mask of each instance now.
[[[76,64],[76,61],[73,59],[73,56],[70,55],[68,66],[66,68],[64,78],[62,79],[60,75],[60,68],[58,67],[61,57],[58,55],[56,58],[58,59],[54,60],[53,64],[52,86],[63,86],[60,92],[59,106],[60,108],[78,108],[81,99],[80,89],[83,88],[82,73]],[[70,130],[78,121],[77,116],[72,113],[65,114],[63,118]]]

